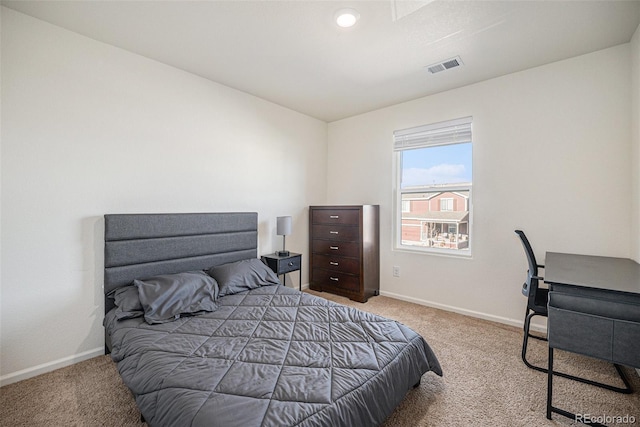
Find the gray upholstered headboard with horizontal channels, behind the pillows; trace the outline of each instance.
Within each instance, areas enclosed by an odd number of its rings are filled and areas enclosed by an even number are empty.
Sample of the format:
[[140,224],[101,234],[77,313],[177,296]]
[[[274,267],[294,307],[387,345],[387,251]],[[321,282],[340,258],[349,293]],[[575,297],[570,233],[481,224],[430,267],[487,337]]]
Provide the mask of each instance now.
[[258,256],[258,214],[105,215],[105,313],[112,290],[158,274],[202,270]]

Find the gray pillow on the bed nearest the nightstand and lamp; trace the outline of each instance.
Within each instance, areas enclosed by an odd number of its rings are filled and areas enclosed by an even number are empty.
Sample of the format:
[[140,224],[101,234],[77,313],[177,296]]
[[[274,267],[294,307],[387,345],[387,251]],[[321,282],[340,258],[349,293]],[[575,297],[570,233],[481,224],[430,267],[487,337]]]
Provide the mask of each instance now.
[[211,267],[207,273],[218,282],[221,297],[280,284],[278,276],[257,258]]

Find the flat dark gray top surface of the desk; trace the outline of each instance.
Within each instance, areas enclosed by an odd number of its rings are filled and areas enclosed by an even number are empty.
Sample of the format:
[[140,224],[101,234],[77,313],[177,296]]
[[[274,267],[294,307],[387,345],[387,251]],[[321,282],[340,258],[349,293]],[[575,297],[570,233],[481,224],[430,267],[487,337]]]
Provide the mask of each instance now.
[[640,264],[629,258],[547,252],[544,281],[640,294]]

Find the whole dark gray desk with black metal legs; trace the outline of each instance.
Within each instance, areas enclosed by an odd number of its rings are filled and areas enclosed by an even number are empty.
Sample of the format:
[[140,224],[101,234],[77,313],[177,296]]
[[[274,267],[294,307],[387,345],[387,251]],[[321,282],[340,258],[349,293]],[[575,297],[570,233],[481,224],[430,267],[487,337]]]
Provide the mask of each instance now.
[[631,393],[619,364],[640,367],[640,264],[627,258],[547,252],[544,281],[549,285],[547,418],[555,412],[580,421],[552,405],[553,375],[558,375],[553,350],[613,363],[625,388],[578,380]]

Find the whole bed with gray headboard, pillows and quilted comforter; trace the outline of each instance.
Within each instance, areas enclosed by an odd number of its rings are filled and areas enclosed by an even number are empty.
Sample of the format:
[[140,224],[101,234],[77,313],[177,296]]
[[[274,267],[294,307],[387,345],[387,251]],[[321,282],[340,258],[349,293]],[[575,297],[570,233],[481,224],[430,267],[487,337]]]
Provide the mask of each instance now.
[[105,215],[105,346],[151,426],[375,426],[425,340],[282,286],[257,213]]

